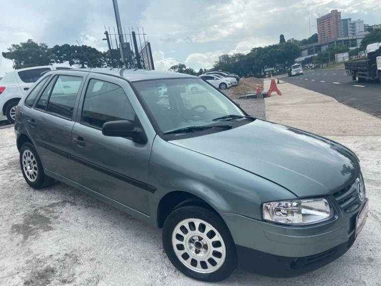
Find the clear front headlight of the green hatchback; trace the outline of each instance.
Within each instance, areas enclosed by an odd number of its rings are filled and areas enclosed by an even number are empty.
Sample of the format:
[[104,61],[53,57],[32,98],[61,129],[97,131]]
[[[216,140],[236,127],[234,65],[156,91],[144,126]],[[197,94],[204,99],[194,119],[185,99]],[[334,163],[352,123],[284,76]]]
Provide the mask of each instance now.
[[312,224],[333,215],[326,199],[304,199],[262,204],[264,220],[284,224]]

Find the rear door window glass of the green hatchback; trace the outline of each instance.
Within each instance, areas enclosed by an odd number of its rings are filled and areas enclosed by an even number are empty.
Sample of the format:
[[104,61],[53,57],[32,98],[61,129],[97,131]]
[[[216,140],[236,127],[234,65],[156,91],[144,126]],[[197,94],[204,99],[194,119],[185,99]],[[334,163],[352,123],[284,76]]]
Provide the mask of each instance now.
[[59,75],[46,111],[71,119],[81,82],[80,76]]

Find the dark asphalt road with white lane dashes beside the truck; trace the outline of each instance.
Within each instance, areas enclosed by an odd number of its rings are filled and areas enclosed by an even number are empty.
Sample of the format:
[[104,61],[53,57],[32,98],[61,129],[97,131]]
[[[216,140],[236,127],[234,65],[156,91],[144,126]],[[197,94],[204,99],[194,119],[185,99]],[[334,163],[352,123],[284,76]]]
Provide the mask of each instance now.
[[381,118],[381,84],[357,83],[345,70],[304,71],[303,75],[280,77],[286,82],[320,92],[337,101]]

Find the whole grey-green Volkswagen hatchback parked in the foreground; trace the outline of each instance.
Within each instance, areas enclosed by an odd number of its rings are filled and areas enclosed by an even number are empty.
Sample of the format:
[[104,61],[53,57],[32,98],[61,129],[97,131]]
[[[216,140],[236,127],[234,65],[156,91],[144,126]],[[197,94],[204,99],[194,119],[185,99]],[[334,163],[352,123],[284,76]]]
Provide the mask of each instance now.
[[298,276],[344,254],[368,204],[348,148],[255,119],[195,76],[49,71],[16,109],[20,166],[163,228],[173,265],[220,281],[238,263]]

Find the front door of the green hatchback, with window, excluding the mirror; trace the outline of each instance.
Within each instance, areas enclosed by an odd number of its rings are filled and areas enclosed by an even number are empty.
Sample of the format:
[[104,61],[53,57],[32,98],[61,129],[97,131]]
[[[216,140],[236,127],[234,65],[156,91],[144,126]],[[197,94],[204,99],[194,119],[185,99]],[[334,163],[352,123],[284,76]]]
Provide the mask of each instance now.
[[[135,120],[125,80],[89,75],[81,111],[71,133],[70,178],[82,186],[143,214],[148,211],[148,160],[151,145],[102,135],[105,122]],[[125,86],[125,87],[122,87]],[[128,88],[127,88],[127,87]]]

